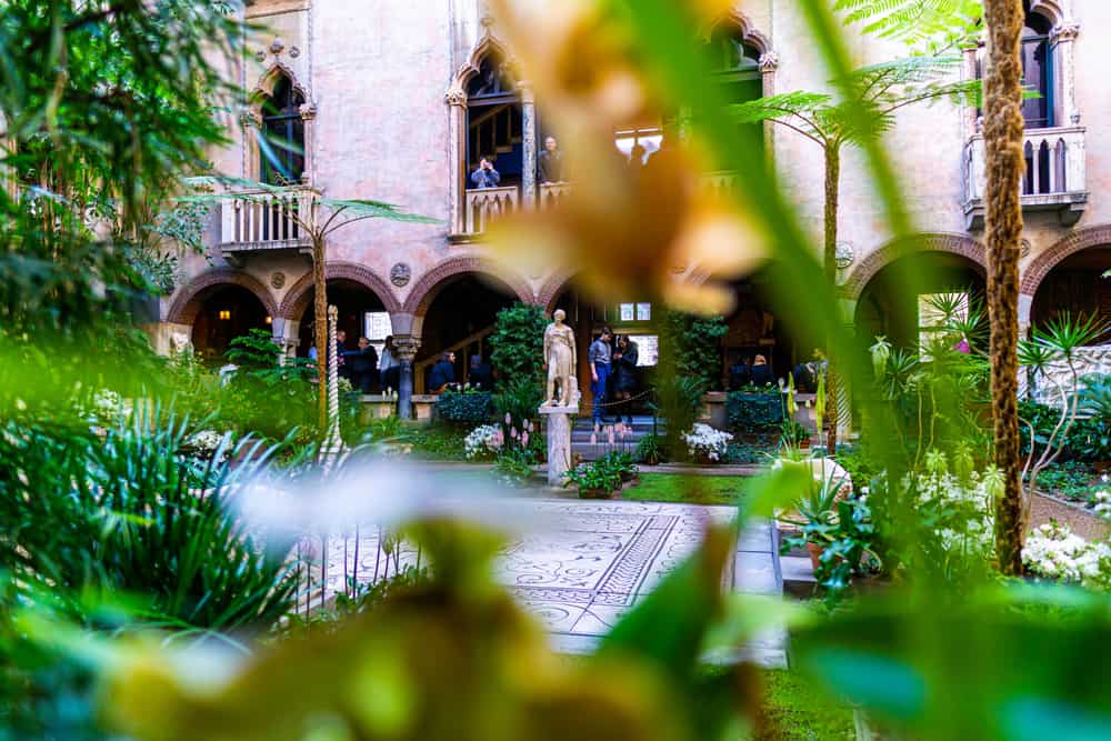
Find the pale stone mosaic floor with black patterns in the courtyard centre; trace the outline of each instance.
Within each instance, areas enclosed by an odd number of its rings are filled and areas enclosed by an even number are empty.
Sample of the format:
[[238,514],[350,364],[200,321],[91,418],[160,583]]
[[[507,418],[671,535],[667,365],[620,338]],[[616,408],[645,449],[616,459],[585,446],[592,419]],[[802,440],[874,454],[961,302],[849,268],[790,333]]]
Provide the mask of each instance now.
[[[660,580],[699,545],[707,524],[728,522],[737,510],[652,502],[589,502],[518,499],[534,522],[510,543],[498,564],[498,580],[521,604],[547,623],[553,647],[584,653]],[[738,540],[722,588],[782,594],[779,554],[770,523],[750,524]],[[358,555],[357,555],[358,553]],[[402,562],[414,554],[403,551]],[[359,582],[381,573],[376,529],[329,542],[328,590],[342,589],[344,574]],[[344,563],[347,568],[344,569]],[[784,639],[769,634],[745,647],[744,658],[765,665],[787,664]]]

